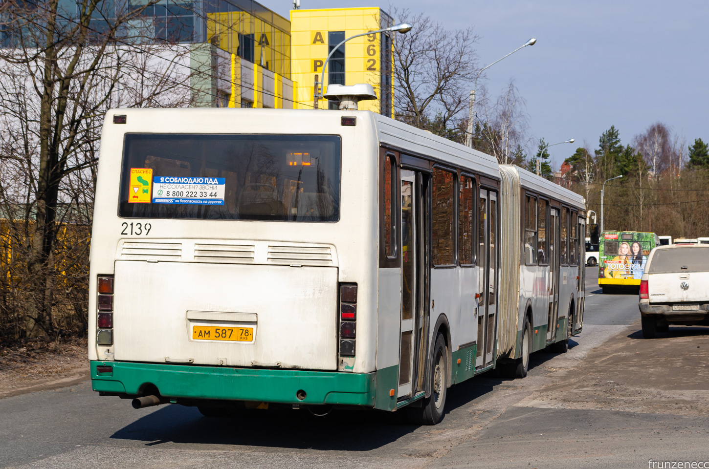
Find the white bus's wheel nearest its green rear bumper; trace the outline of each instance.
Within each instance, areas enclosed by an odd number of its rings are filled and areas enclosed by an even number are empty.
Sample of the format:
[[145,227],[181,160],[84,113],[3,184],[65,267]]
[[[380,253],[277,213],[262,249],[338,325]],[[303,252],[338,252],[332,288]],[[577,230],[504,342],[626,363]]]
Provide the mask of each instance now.
[[448,350],[443,334],[438,334],[431,361],[431,395],[421,407],[406,407],[408,419],[413,424],[435,425],[443,418],[448,389]]

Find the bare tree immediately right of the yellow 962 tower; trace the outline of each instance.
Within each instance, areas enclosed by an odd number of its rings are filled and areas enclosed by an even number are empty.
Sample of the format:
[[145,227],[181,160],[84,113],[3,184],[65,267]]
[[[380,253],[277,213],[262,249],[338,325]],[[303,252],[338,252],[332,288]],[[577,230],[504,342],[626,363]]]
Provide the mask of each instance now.
[[396,117],[418,128],[434,120],[443,128],[456,127],[468,106],[465,85],[476,74],[473,45],[478,36],[472,28],[448,30],[408,9],[391,13],[416,25],[394,43]]

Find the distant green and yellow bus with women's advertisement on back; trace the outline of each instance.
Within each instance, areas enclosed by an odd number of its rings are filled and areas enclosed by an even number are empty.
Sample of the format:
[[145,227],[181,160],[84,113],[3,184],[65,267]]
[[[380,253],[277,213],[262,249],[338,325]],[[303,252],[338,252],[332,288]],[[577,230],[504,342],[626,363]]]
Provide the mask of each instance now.
[[647,256],[660,240],[654,233],[604,231],[598,249],[598,286],[603,293],[618,287],[638,286]]

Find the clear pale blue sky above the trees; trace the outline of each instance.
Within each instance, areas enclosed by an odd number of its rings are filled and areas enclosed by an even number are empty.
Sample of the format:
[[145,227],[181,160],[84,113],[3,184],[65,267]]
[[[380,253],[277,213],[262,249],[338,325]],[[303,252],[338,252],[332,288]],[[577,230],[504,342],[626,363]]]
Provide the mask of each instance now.
[[[474,28],[481,66],[537,38],[487,69],[481,82],[497,96],[515,80],[527,102],[531,146],[540,137],[549,144],[576,140],[549,148],[554,169],[576,147],[597,148],[610,125],[623,144],[658,121],[687,145],[709,141],[707,0],[301,0],[301,8],[388,10],[390,2],[445,28]],[[286,18],[293,6],[261,3]]]

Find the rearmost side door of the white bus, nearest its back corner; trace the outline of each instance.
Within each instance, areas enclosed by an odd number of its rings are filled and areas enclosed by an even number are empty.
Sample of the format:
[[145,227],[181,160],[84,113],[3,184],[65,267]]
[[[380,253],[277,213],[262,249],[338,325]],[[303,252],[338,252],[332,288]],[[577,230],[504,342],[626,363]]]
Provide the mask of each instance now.
[[[423,387],[428,288],[425,278],[425,210],[428,176],[401,169],[401,337],[397,397]],[[415,386],[414,386],[415,383]]]

